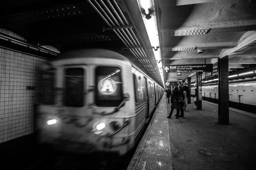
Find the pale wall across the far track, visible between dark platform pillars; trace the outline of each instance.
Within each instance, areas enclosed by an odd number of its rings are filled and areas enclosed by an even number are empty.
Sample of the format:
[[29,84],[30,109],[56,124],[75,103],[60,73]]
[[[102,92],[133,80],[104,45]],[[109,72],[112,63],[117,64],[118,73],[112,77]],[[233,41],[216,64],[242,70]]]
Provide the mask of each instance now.
[[[191,87],[191,96],[195,96],[196,87]],[[229,80],[229,106],[239,110],[256,113],[256,77]],[[202,85],[202,99],[218,103],[218,83]]]

